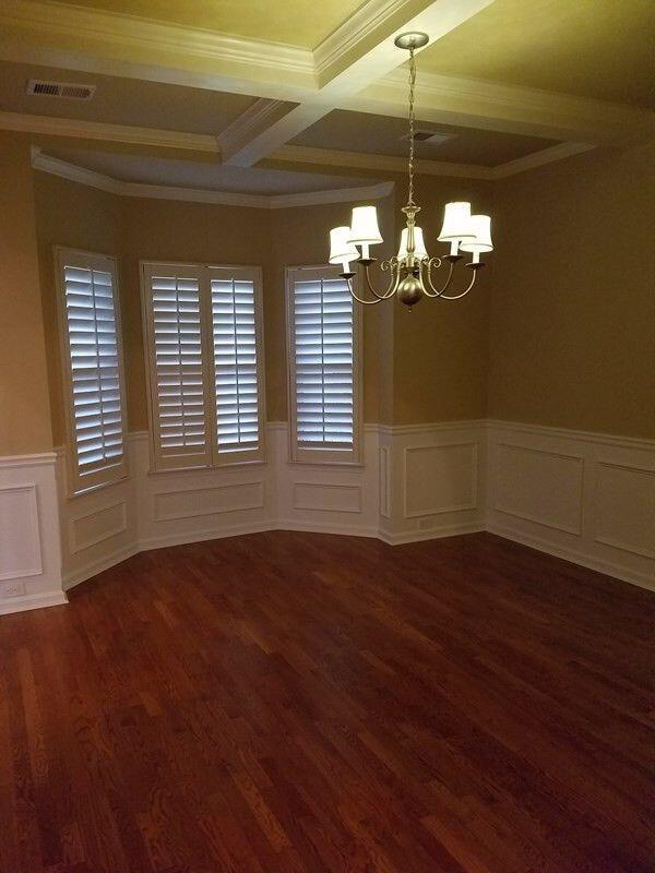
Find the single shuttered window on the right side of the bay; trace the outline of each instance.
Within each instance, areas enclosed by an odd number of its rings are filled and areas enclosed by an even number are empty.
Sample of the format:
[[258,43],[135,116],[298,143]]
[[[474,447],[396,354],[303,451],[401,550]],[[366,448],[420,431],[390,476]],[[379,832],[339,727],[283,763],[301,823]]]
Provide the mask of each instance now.
[[291,457],[360,459],[359,307],[334,267],[287,270]]

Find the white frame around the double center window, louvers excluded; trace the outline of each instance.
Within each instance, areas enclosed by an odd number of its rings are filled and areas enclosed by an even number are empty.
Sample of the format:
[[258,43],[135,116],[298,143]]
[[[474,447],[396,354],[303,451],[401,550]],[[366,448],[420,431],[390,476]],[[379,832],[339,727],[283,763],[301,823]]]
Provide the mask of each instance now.
[[[204,451],[198,453],[198,463],[179,464],[175,456],[163,457],[158,452],[158,417],[156,415],[157,394],[156,383],[153,379],[155,373],[155,346],[153,336],[152,320],[152,297],[148,279],[153,270],[170,268],[174,271],[184,270],[199,278],[200,289],[200,311],[201,311],[201,342],[204,375],[204,414],[206,432],[210,439]],[[258,449],[247,449],[236,452],[223,453],[218,451],[216,436],[216,410],[214,395],[214,339],[212,325],[212,298],[211,278],[212,273],[225,271],[234,277],[251,279],[254,288],[254,325],[255,325],[255,351],[258,361]],[[264,361],[264,330],[263,330],[263,290],[262,290],[262,268],[261,266],[248,266],[242,264],[193,264],[180,261],[155,261],[143,260],[139,262],[139,276],[141,285],[141,313],[143,322],[143,345],[145,356],[145,379],[147,388],[147,418],[148,418],[148,442],[151,456],[151,474],[167,471],[212,469],[217,467],[236,467],[240,465],[265,463],[265,421],[266,421],[266,390],[265,390],[265,361]],[[184,455],[189,458],[190,455]]]

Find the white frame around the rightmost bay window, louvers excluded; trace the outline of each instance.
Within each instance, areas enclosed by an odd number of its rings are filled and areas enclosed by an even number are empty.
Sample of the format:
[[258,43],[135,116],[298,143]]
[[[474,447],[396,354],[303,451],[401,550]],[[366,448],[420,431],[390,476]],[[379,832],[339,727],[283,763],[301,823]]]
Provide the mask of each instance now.
[[361,466],[362,449],[362,319],[361,306],[353,304],[353,447],[306,449],[298,445],[296,407],[296,338],[294,330],[294,283],[300,275],[338,277],[338,267],[330,264],[296,265],[285,267],[286,322],[287,322],[287,388],[289,408],[289,461],[301,464],[329,464],[330,466]]

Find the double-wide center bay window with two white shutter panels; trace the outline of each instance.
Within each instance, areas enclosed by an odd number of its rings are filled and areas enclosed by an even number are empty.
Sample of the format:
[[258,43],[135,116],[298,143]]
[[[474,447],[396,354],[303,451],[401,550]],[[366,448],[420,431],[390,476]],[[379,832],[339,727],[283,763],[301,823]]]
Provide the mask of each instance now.
[[155,469],[263,457],[259,267],[142,263]]

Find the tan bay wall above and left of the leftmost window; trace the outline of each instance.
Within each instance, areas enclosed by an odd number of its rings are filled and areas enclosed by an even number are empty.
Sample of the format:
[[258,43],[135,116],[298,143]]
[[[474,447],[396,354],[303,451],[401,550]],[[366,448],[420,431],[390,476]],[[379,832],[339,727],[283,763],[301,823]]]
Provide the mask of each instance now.
[[[52,439],[55,445],[62,445],[66,441],[66,399],[61,373],[55,246],[117,255],[120,248],[119,199],[105,191],[45,172],[34,174],[34,192]],[[123,312],[126,289],[121,267],[119,259],[120,302]]]

